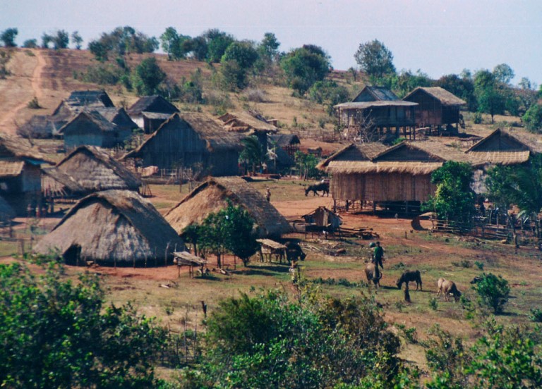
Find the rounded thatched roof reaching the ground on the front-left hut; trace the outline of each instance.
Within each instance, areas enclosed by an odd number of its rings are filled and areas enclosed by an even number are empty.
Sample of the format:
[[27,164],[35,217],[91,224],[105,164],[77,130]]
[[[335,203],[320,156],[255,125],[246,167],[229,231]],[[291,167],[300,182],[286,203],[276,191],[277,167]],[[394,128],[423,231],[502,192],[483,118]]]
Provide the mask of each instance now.
[[67,257],[75,247],[83,261],[118,266],[162,265],[166,259],[171,262],[173,252],[184,249],[155,207],[129,190],[107,190],[81,199],[37,243],[35,252],[59,249]]

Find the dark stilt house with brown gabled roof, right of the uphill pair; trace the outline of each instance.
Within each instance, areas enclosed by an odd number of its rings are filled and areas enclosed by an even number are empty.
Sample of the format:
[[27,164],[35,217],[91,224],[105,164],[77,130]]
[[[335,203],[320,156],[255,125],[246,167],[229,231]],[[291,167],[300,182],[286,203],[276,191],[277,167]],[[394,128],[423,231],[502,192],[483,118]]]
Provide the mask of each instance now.
[[459,109],[466,102],[441,87],[417,87],[406,95],[404,101],[418,104],[416,107],[416,126],[453,129],[459,132]]

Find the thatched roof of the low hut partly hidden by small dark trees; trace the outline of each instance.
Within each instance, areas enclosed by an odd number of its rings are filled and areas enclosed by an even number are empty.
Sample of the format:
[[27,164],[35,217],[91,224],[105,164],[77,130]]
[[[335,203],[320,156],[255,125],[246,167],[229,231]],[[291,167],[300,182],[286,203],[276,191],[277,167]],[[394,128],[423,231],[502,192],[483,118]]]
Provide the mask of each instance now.
[[251,214],[260,237],[291,232],[289,223],[279,211],[239,177],[210,178],[170,209],[165,218],[177,233],[181,233],[190,224],[199,224],[207,215],[224,209],[227,199],[234,205],[243,206]]

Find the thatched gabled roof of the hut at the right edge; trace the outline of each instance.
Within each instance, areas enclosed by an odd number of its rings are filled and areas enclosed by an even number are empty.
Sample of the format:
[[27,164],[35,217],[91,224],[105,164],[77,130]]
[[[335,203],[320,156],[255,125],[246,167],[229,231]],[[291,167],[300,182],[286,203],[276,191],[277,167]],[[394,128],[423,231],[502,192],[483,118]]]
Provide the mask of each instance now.
[[498,128],[466,153],[479,163],[519,165],[529,161],[531,155],[542,153],[542,137]]

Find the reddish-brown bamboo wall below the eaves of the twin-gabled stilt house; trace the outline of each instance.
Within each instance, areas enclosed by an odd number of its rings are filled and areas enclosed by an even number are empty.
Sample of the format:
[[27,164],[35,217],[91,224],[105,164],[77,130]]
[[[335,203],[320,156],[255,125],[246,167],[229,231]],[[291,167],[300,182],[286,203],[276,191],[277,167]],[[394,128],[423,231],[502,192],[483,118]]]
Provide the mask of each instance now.
[[330,187],[336,200],[371,202],[424,202],[436,190],[430,175],[404,173],[335,173]]

